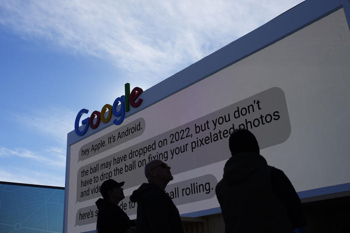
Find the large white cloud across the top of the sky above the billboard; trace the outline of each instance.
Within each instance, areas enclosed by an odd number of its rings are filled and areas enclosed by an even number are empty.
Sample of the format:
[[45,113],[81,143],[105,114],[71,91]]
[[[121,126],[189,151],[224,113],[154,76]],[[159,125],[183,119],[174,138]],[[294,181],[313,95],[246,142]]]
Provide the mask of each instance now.
[[302,0],[2,0],[0,24],[160,81]]

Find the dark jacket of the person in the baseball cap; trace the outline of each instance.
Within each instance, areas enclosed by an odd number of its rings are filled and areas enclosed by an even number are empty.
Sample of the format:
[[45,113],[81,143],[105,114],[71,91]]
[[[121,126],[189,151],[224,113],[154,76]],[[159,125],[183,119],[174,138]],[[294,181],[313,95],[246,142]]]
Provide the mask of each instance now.
[[136,226],[118,205],[100,198],[96,206],[98,233],[125,233],[130,227]]

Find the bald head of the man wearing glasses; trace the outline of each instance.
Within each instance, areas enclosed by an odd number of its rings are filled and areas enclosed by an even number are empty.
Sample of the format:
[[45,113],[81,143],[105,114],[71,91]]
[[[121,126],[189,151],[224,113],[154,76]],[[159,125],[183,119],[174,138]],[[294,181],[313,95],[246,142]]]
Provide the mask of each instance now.
[[145,176],[149,183],[162,183],[167,185],[173,180],[171,167],[159,159],[152,160],[145,166]]

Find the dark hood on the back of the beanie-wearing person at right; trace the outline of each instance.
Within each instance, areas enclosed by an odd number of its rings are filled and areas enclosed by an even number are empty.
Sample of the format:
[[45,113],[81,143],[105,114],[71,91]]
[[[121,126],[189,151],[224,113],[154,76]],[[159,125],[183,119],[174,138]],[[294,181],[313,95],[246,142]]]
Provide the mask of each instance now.
[[227,160],[224,167],[223,179],[236,183],[248,178],[254,171],[266,166],[266,159],[260,154],[241,152]]

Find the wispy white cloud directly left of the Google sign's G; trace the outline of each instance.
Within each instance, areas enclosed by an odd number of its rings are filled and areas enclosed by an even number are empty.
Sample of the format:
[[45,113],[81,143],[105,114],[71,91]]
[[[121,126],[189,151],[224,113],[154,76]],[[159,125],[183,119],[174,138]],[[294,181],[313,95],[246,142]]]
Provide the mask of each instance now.
[[14,115],[14,118],[31,130],[49,135],[64,147],[67,143],[67,133],[74,129],[76,114],[66,108],[49,107],[36,110],[33,115]]

